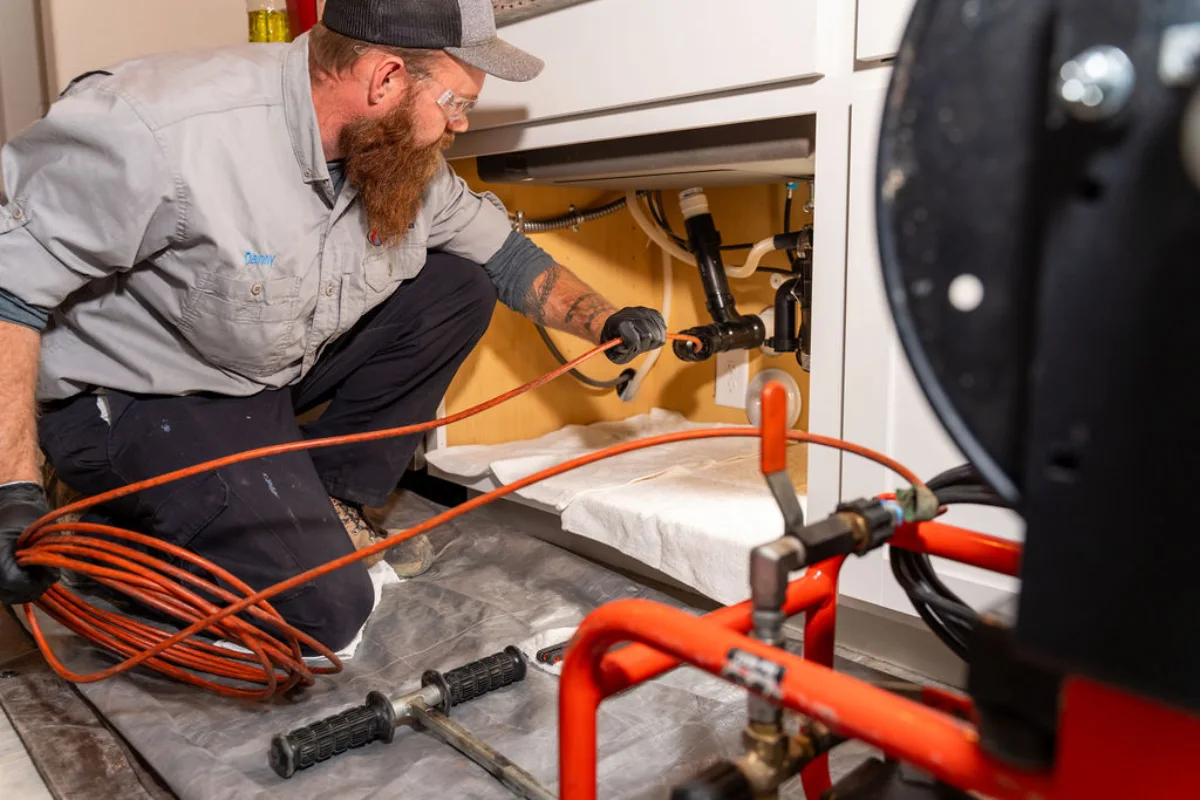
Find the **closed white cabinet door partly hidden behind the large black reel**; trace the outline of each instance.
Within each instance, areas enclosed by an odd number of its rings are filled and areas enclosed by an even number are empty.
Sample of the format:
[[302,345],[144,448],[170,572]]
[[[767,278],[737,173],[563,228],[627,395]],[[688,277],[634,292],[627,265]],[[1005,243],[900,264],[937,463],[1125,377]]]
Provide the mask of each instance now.
[[[905,359],[883,294],[875,231],[875,162],[886,90],[860,91],[851,115],[850,216],[846,272],[846,345],[842,435],[892,456],[923,479],[964,463],[926,402]],[[859,458],[842,461],[842,497],[869,497],[902,483],[890,470]],[[1024,525],[1012,512],[955,507],[943,522],[1020,540]],[[1016,590],[1016,582],[974,567],[935,559],[946,584],[976,608]],[[913,613],[892,577],[887,553],[872,554],[847,573],[845,591],[895,610]]]

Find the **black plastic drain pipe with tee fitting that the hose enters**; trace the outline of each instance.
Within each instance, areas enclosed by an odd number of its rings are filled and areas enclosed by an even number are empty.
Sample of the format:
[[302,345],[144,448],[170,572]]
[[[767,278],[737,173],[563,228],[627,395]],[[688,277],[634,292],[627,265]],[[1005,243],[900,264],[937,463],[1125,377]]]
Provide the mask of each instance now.
[[726,350],[749,350],[762,347],[767,327],[754,314],[738,313],[725,264],[721,261],[721,235],[708,210],[704,190],[689,188],[679,193],[679,209],[688,228],[688,246],[696,257],[700,279],[704,284],[706,307],[713,324],[692,327],[684,333],[700,339],[701,347],[692,348],[685,342],[676,342],[674,354],[682,361],[704,361]]

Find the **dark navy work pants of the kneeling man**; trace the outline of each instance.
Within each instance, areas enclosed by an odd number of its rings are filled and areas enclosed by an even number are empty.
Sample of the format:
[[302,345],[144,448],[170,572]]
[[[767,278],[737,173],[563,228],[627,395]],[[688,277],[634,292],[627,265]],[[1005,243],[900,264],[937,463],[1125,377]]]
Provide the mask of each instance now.
[[[298,385],[252,397],[80,395],[43,411],[42,450],[67,486],[92,495],[253,447],[431,420],[494,305],[482,267],[430,253],[425,269],[332,343]],[[326,401],[318,420],[298,423],[298,414]],[[244,462],[122,498],[94,518],[185,547],[262,589],[352,552],[329,495],[383,505],[418,441]],[[270,602],[337,650],[371,613],[373,591],[359,563]]]

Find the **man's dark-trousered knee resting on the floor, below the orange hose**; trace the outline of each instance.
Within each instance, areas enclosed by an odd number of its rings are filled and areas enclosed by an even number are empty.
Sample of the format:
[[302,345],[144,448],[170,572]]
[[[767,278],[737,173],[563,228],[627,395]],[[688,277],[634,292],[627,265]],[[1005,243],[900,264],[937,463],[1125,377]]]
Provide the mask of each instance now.
[[280,607],[283,618],[335,652],[349,644],[374,608],[374,587],[361,564],[318,578]]

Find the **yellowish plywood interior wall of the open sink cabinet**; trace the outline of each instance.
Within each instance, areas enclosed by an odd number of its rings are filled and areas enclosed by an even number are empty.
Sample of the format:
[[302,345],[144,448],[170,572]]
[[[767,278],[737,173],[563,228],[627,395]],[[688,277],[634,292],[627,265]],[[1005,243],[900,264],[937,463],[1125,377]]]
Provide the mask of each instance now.
[[[455,169],[468,178],[476,188],[490,188],[505,201],[510,211],[521,209],[530,218],[557,216],[570,204],[589,207],[617,197],[586,190],[548,187],[485,186],[474,176],[472,161],[455,162]],[[726,242],[757,241],[782,230],[782,186],[749,186],[714,188],[708,191],[713,215]],[[806,188],[797,193],[793,224],[810,221],[803,211]],[[665,193],[672,224],[683,230],[678,216],[678,200]],[[661,255],[655,246],[647,246],[646,235],[637,228],[628,211],[618,212],[596,222],[587,223],[576,233],[570,228],[533,236],[558,261],[571,269],[581,278],[605,294],[619,306],[642,305],[660,307],[662,296]],[[744,257],[745,251],[727,253],[732,263]],[[781,253],[768,255],[764,265],[787,265]],[[680,261],[673,265],[673,311],[670,329],[679,331],[691,325],[709,321],[704,309],[704,293],[695,269]],[[758,313],[774,302],[774,290],[769,276],[758,273],[745,279],[731,279],[738,308],[746,313]],[[551,332],[559,349],[568,357],[581,355],[590,348],[582,339],[566,333]],[[644,357],[644,356],[643,356]],[[631,366],[636,367],[640,361]],[[498,392],[532,380],[558,366],[546,347],[538,338],[533,323],[524,317],[497,306],[492,325],[484,341],[468,357],[457,379],[450,387],[446,410],[458,411],[482,402]],[[779,367],[790,372],[808,397],[809,375],[796,363],[791,354],[767,357],[756,351],[751,361],[751,374],[764,367]],[[600,356],[583,367],[588,374],[611,378],[622,367]],[[622,402],[613,391],[588,389],[570,377],[542,386],[524,397],[510,401],[485,414],[464,420],[446,431],[449,445],[496,444],[538,437],[556,431],[568,423],[588,423],[616,420],[643,414],[652,408],[667,408],[685,414],[695,421],[745,423],[740,409],[716,405],[713,401],[715,366],[712,361],[684,363],[670,351],[665,351],[649,373],[642,391],[632,403]],[[798,428],[808,427],[808,403]]]

